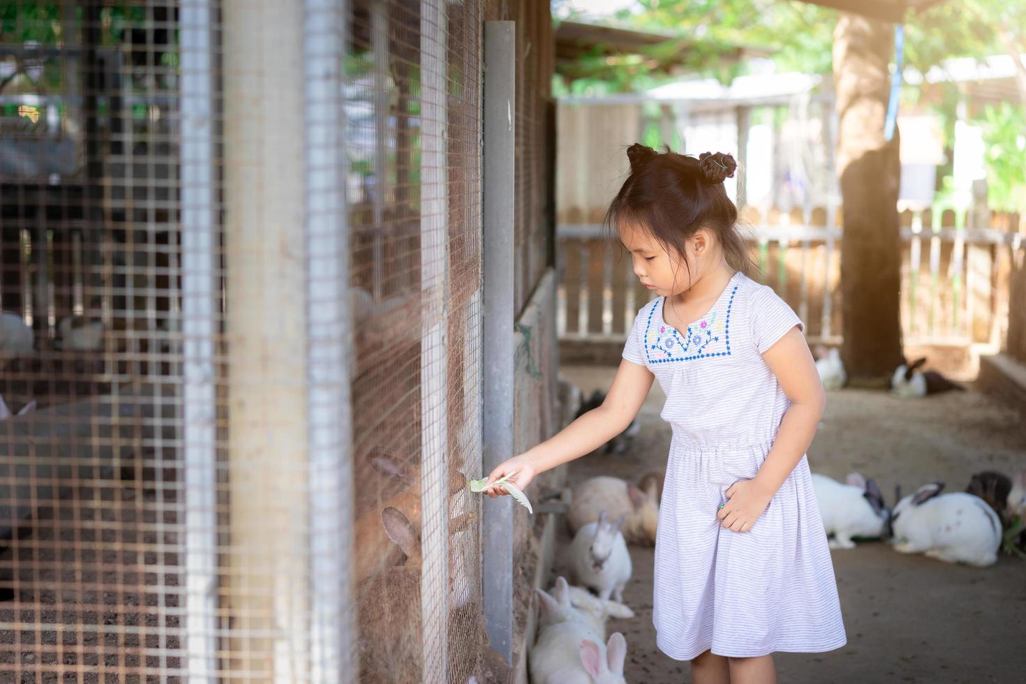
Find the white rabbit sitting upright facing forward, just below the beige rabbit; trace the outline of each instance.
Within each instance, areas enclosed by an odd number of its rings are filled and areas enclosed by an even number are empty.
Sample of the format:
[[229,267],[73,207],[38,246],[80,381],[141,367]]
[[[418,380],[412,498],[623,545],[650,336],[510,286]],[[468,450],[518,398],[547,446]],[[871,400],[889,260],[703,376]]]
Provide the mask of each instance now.
[[620,516],[610,524],[602,511],[597,521],[578,530],[567,550],[577,584],[594,589],[601,599],[611,595],[621,603],[624,585],[633,571],[627,541],[620,532],[623,523],[624,517]]

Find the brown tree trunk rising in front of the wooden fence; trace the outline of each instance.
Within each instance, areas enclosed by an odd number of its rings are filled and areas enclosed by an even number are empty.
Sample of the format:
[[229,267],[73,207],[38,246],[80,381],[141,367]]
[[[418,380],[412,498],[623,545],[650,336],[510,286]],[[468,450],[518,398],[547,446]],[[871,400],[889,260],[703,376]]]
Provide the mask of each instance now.
[[842,13],[834,29],[843,201],[841,360],[850,384],[886,383],[902,362],[898,132],[883,138],[894,25]]

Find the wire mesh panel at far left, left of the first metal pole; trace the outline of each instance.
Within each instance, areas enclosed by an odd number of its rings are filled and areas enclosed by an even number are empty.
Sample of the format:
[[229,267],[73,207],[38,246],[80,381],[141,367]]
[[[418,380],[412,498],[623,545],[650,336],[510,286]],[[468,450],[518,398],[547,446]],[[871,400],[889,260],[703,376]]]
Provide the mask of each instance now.
[[0,670],[174,681],[174,8],[0,7]]

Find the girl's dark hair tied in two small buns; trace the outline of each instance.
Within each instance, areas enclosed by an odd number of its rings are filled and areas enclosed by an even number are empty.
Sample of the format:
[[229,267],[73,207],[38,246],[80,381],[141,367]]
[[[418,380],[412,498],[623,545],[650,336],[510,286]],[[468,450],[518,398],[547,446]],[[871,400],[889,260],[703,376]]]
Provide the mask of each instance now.
[[737,228],[738,207],[723,187],[738,168],[734,157],[704,152],[696,159],[664,148],[662,154],[639,143],[627,148],[631,174],[609,204],[603,226],[614,233],[624,223],[647,231],[680,254],[688,272],[684,245],[700,228],[708,228],[722,245],[726,263],[752,275],[756,267]]

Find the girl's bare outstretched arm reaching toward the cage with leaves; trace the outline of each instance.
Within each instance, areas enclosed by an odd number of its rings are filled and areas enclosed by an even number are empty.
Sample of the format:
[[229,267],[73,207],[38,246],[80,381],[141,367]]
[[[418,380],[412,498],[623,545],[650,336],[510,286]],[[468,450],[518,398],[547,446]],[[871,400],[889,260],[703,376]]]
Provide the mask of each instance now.
[[[539,473],[591,453],[631,424],[648,396],[655,375],[644,366],[621,361],[605,401],[541,444],[499,464],[488,482],[516,472],[511,482],[521,491]],[[508,494],[502,485],[484,490],[491,498]]]

